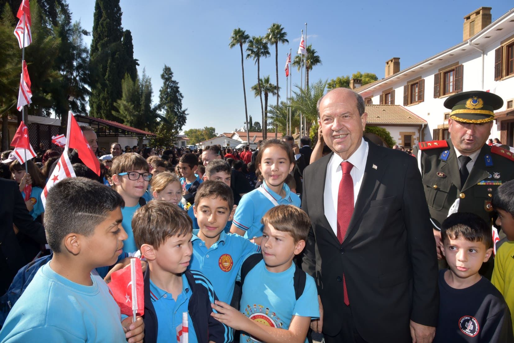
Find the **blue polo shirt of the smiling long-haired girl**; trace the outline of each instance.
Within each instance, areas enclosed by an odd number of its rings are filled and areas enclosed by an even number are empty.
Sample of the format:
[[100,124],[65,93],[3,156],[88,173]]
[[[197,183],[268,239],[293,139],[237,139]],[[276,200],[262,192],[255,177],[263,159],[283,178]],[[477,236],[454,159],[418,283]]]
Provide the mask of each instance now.
[[[295,193],[291,193],[286,183],[282,189],[286,195],[282,198],[279,194],[273,192],[266,182],[260,186],[268,196],[274,198],[279,205],[295,205],[300,207],[300,197]],[[261,219],[264,214],[273,208],[273,203],[259,189],[254,189],[250,193],[246,193],[241,198],[239,205],[235,209],[233,223],[245,232],[245,238],[261,237],[264,225]]]

